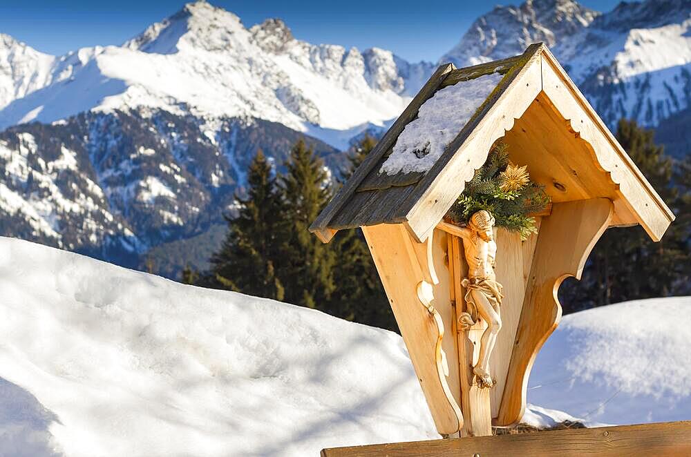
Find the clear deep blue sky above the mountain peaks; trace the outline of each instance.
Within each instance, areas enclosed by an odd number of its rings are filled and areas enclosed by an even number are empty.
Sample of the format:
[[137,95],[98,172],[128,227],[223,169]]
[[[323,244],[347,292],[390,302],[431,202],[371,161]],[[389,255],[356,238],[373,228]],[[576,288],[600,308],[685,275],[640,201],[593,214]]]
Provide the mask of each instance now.
[[[390,49],[410,61],[436,61],[459,41],[473,21],[495,4],[521,1],[226,1],[216,6],[238,14],[249,27],[280,17],[293,34],[311,43]],[[600,11],[618,0],[583,0]],[[97,44],[120,44],[151,23],[180,10],[170,0],[0,0],[0,32],[32,48],[61,55]],[[434,8],[432,6],[435,6]]]

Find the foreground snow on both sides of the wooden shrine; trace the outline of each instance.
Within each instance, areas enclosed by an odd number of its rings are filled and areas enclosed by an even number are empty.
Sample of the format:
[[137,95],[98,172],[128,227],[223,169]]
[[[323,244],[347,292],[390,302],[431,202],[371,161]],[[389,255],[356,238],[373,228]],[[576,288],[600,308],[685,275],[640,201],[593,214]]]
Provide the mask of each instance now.
[[[671,298],[566,316],[524,420],[690,418],[690,315]],[[439,438],[395,333],[3,237],[0,334],[3,456],[316,456]]]

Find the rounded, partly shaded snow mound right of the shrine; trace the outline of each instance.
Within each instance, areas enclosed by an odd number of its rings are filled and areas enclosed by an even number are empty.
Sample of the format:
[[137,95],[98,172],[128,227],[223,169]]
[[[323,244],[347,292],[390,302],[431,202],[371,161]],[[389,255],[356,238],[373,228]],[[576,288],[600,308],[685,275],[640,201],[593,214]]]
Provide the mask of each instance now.
[[564,316],[528,381],[528,401],[615,425],[691,419],[691,298]]

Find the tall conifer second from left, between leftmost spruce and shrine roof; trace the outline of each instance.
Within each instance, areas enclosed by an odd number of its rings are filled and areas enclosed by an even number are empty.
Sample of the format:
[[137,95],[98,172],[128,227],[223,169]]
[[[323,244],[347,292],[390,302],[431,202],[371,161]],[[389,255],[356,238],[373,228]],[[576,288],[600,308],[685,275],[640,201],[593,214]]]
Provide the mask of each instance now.
[[279,276],[285,300],[329,311],[334,291],[334,249],[309,231],[310,224],[331,197],[331,184],[323,161],[300,139],[290,151],[281,177],[285,218],[290,221],[281,248]]

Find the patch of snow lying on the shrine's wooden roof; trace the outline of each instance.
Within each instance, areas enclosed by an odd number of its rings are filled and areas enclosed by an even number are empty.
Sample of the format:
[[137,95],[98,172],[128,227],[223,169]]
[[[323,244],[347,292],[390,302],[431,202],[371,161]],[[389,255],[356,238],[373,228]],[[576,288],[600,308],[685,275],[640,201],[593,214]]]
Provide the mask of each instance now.
[[438,90],[399,135],[379,173],[426,172],[501,81],[491,73]]

